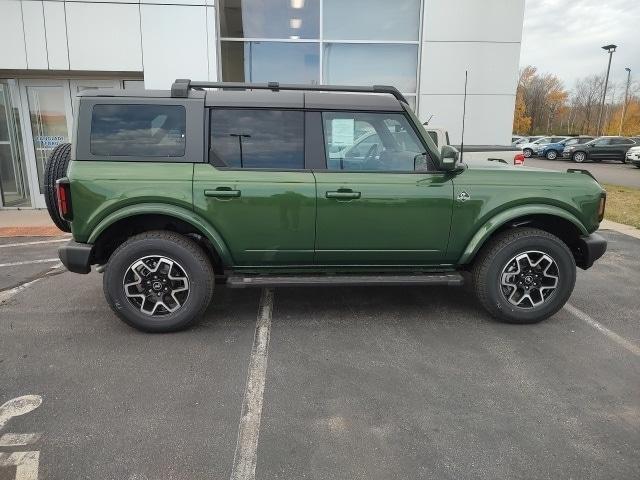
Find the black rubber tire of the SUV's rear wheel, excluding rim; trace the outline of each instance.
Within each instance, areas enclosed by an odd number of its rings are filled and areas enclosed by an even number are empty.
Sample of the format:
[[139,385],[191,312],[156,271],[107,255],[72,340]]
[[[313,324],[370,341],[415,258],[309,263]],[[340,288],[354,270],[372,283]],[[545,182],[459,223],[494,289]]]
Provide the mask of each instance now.
[[[133,274],[132,267],[140,259],[145,259],[153,266],[153,262],[158,257],[164,257],[172,262],[173,266],[169,268],[169,276],[173,272],[173,277],[180,277],[178,282],[186,283],[175,284],[172,279],[160,278],[156,280],[151,275],[158,273],[162,277],[162,270],[167,268],[168,263],[157,261],[162,267],[155,266],[155,271],[145,266],[140,266],[144,271],[147,268],[146,275]],[[173,269],[173,270],[172,270]],[[142,273],[142,272],[141,272]],[[139,285],[129,287],[129,294],[140,294],[146,299],[137,299],[127,296],[125,293],[125,280],[133,278],[139,279]],[[148,281],[145,282],[145,280]],[[122,321],[128,325],[145,332],[174,332],[184,329],[194,324],[202,316],[207,306],[211,302],[213,288],[215,283],[213,267],[207,258],[205,252],[200,246],[183,235],[168,231],[151,231],[141,233],[131,237],[122,245],[120,245],[109,258],[103,278],[103,289],[107,303],[111,309],[120,317]],[[152,283],[145,285],[144,283]],[[158,287],[155,293],[156,284],[165,283],[165,289],[171,288],[171,296],[169,293],[163,293],[162,285]],[[171,286],[171,283],[174,283]],[[173,287],[187,286],[185,292],[180,292],[181,297],[177,297],[174,292],[177,290]],[[149,293],[145,293],[148,291]],[[160,298],[157,299],[155,295]],[[180,300],[182,303],[173,302],[173,299]],[[149,300],[149,301],[147,301]],[[156,306],[151,308],[151,301]],[[146,303],[145,303],[146,302]],[[163,305],[157,305],[162,302],[171,306],[176,306],[174,311],[165,308]],[[138,304],[140,303],[140,304]],[[170,305],[173,303],[174,305]],[[146,305],[146,306],[145,306]],[[142,309],[151,310],[152,313],[145,313]]]

